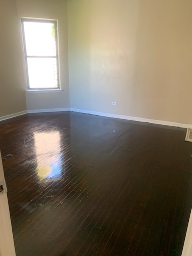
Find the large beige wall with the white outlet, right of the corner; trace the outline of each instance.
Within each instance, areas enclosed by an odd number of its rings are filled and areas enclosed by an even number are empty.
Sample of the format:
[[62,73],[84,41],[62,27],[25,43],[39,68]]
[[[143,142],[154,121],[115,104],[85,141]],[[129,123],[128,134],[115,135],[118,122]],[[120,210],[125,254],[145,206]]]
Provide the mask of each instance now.
[[69,0],[70,106],[192,124],[191,13],[191,0]]

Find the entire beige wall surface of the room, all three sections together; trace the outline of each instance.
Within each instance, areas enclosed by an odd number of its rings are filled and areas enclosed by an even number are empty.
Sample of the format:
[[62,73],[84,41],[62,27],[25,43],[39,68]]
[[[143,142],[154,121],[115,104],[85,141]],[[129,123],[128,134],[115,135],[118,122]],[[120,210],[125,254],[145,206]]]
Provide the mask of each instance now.
[[[192,124],[191,13],[191,0],[1,0],[0,116],[70,106]],[[27,107],[21,16],[59,22],[63,92]]]

